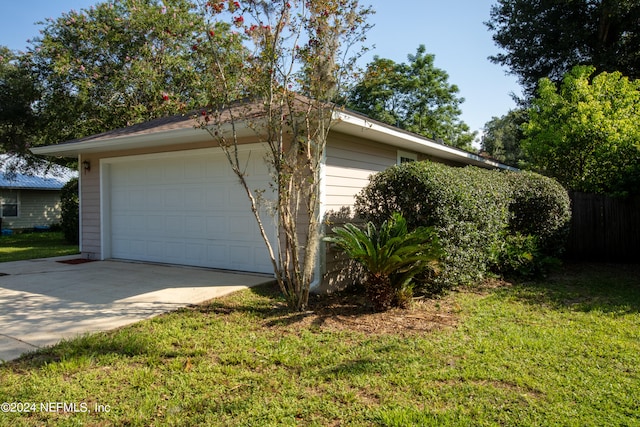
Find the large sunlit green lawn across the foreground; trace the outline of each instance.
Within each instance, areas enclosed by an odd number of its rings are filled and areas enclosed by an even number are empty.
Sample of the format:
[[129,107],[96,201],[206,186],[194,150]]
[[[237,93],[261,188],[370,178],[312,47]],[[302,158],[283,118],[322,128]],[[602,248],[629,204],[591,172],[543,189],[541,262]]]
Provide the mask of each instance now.
[[88,408],[0,425],[639,425],[638,266],[568,266],[429,304],[455,324],[363,332],[364,315],[336,315],[354,327],[335,328],[270,288],[239,292],[0,366],[0,402]]

